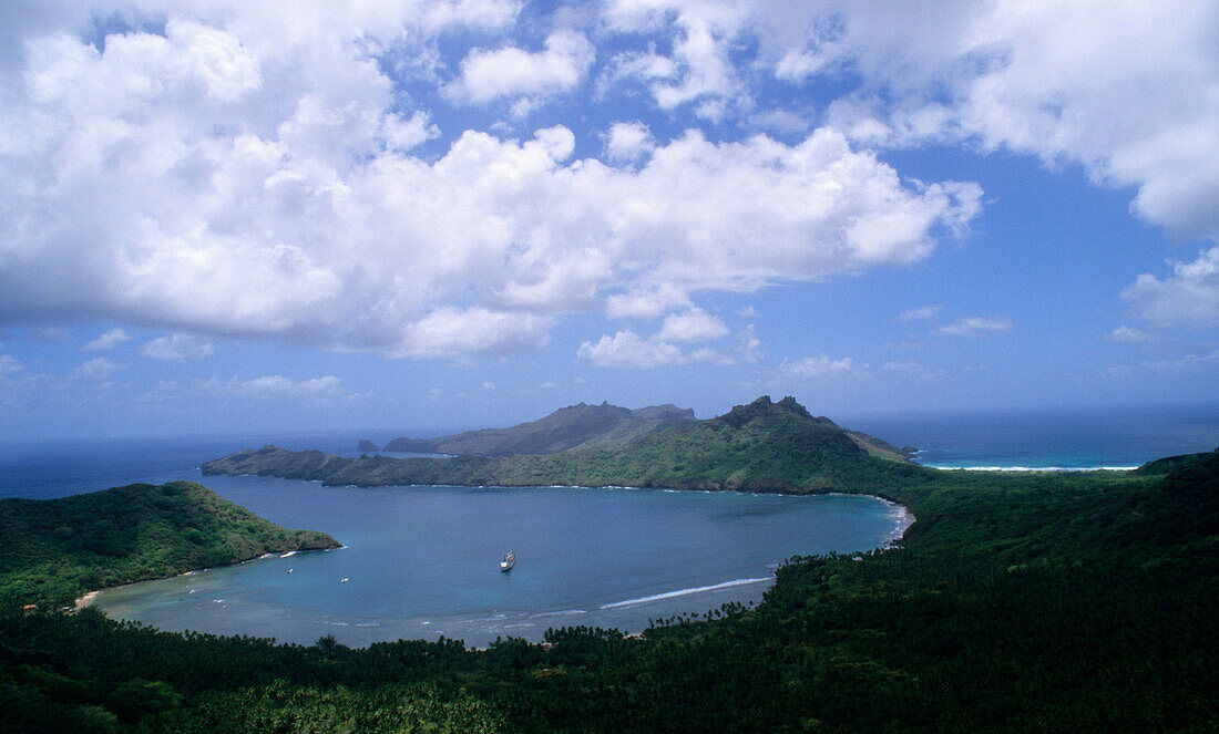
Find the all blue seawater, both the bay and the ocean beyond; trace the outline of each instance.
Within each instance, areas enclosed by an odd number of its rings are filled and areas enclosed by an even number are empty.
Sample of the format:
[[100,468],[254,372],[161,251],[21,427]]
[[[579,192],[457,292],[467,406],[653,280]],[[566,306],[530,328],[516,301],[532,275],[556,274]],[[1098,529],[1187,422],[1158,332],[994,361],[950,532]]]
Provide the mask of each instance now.
[[[842,425],[957,469],[1132,467],[1214,449],[1219,407],[859,416]],[[411,435],[402,431],[401,435]],[[347,455],[388,436],[174,437],[0,442],[0,497],[54,498],[193,480],[279,525],[325,531],[333,551],[104,592],[107,613],[163,629],[347,645],[444,635],[483,646],[550,627],[624,632],[652,620],[759,601],[792,555],[885,545],[911,521],[865,497],[781,497],[573,487],[322,487],[204,477],[202,461],[277,443]],[[501,573],[503,553],[517,566]],[[344,581],[346,579],[346,581]]]

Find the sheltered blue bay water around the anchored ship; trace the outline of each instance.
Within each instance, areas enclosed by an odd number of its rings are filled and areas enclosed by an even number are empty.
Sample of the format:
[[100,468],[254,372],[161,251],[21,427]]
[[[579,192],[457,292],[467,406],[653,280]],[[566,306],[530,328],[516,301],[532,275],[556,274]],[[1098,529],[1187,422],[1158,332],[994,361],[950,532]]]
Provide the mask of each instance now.
[[[346,548],[111,589],[99,609],[162,629],[295,643],[333,634],[347,645],[441,634],[471,645],[540,640],[568,624],[634,632],[761,600],[781,560],[876,548],[908,522],[901,508],[846,495],[206,480],[265,517],[324,530]],[[510,549],[517,565],[502,573]]]

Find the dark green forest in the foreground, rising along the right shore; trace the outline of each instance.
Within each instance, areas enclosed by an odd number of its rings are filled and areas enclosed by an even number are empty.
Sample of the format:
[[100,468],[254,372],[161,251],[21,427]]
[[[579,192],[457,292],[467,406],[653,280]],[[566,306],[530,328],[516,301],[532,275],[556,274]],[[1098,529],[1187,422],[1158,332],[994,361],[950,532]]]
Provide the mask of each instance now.
[[[742,424],[744,425],[744,424]],[[894,475],[901,548],[794,559],[755,609],[547,644],[172,634],[0,611],[0,717],[108,732],[1219,728],[1219,452],[1169,471]]]

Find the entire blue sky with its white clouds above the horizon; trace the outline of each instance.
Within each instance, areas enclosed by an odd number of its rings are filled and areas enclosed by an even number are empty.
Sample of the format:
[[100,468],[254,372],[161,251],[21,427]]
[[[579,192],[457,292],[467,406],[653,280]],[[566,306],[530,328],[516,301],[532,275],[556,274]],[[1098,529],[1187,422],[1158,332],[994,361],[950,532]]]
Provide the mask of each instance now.
[[759,394],[1214,404],[1219,4],[0,5],[0,436]]

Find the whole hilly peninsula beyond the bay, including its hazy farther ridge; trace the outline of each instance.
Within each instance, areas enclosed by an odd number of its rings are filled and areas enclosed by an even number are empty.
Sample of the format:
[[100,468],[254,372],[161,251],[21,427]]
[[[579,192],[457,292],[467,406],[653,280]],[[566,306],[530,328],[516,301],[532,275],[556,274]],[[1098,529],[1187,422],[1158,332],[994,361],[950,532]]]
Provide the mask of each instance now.
[[[391,446],[447,458],[290,452],[274,446],[205,463],[205,475],[262,475],[328,486],[631,486],[746,492],[879,491],[926,477],[906,450],[763,396],[696,420],[661,405],[573,405],[539,421]],[[388,448],[388,447],[386,447]],[[510,448],[533,453],[508,453]]]

